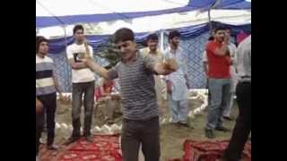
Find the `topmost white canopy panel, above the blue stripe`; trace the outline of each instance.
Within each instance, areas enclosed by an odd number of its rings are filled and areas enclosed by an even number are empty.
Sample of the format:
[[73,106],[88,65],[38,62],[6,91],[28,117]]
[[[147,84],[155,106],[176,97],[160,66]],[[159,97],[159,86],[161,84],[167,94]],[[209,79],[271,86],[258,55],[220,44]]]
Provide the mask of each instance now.
[[159,11],[183,7],[188,2],[189,0],[36,0],[36,15],[67,16]]

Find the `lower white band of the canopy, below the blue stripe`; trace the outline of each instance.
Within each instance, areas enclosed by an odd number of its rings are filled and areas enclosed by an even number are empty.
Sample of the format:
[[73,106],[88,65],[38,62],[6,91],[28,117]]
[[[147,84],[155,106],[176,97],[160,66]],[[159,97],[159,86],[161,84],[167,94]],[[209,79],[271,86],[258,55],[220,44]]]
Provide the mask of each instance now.
[[[246,10],[212,10],[211,21],[221,21],[227,24],[241,25],[251,23],[251,12]],[[207,12],[170,13],[157,16],[147,16],[132,20],[103,21],[99,23],[84,24],[91,28],[91,35],[109,35],[117,29],[127,27],[135,32],[152,32],[154,30],[165,30],[193,26],[208,22]],[[39,29],[38,34],[46,38],[64,37],[73,35],[74,25],[68,25],[65,30],[62,26]],[[66,31],[66,33],[65,33]]]

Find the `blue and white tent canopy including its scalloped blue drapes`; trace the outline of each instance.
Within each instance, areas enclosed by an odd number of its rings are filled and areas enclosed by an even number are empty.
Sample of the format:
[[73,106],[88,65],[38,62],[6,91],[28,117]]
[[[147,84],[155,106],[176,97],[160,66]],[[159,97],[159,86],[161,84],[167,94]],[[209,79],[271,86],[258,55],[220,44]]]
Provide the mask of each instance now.
[[[109,25],[104,27],[107,30],[114,24],[111,31],[87,35],[91,46],[96,48],[107,43],[112,32],[117,30],[116,27],[126,27],[125,25],[144,27],[139,31],[131,28],[135,30],[137,42],[143,42],[146,36],[151,33],[151,30],[160,33],[162,30],[178,29],[183,38],[195,38],[210,30],[206,12],[209,9],[213,9],[211,13],[214,20],[212,19],[212,21],[222,21],[223,15],[230,14],[230,17],[226,18],[223,23],[230,24],[230,27],[234,29],[233,34],[239,32],[237,30],[243,29],[251,32],[251,22],[246,22],[248,19],[239,21],[237,25],[231,25],[232,15],[235,15],[233,17],[240,15],[239,13],[232,13],[232,11],[250,11],[250,8],[251,2],[245,0],[36,0],[36,28],[46,30],[51,27],[74,25],[76,23],[108,22]],[[224,11],[228,11],[228,13],[224,13]],[[178,15],[177,13],[186,14]],[[242,15],[244,14],[247,13]],[[245,17],[251,18],[251,14],[245,15]],[[166,21],[169,19],[174,20],[172,24],[177,25],[172,25],[170,21]],[[241,18],[239,17],[239,19]],[[121,20],[133,22],[124,23],[125,21]],[[145,21],[145,23],[140,20]],[[118,21],[121,21],[121,23]],[[217,24],[219,22],[213,22],[214,26]],[[51,34],[62,37],[49,38],[49,52],[51,54],[63,52],[66,45],[74,42],[71,30],[69,30],[70,34],[65,33],[64,36],[62,27],[58,28],[57,31],[50,31]]]

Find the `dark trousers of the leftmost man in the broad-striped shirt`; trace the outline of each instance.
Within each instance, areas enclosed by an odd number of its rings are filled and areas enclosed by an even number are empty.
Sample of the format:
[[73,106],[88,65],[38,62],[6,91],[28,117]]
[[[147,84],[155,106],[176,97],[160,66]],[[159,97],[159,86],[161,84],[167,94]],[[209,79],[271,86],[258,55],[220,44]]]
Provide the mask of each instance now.
[[40,114],[36,114],[36,155],[38,155],[39,150],[39,138],[41,137],[41,132],[43,131],[44,124],[44,114],[46,113],[46,123],[47,123],[47,145],[50,146],[54,142],[55,138],[55,115],[57,108],[57,94],[52,93],[48,95],[38,96],[39,101],[43,104],[44,109]]

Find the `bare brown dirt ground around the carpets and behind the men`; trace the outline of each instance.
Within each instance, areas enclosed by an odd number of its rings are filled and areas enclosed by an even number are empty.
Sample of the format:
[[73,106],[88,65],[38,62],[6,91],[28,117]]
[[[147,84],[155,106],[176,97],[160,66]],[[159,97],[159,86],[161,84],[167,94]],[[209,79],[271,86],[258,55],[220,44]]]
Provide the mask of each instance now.
[[[234,101],[236,102],[236,101]],[[189,107],[190,110],[195,109],[203,103],[201,100],[190,100]],[[71,118],[71,102],[61,102],[57,103],[57,123],[66,123],[70,125],[72,123]],[[163,101],[160,107],[161,112],[161,120],[162,118],[166,118],[168,120],[170,118],[170,111],[167,106],[167,102]],[[231,117],[236,118],[238,114],[238,106],[235,104],[232,108]],[[116,114],[116,123],[117,125],[121,124],[122,118],[120,114]],[[204,137],[204,125],[205,125],[206,113],[203,112],[194,118],[191,122],[192,127],[179,127],[178,125],[171,123],[161,124],[161,160],[167,160],[169,158],[177,158],[183,156],[183,143],[187,139],[192,140],[207,140]],[[92,127],[101,126],[104,124],[103,114],[99,112],[99,110],[94,110]],[[83,113],[82,113],[82,123],[83,123]],[[224,126],[233,129],[235,121],[223,123]],[[215,136],[216,140],[226,140],[230,139],[231,132],[220,132],[216,131]],[[45,134],[44,134],[45,135]],[[57,131],[56,143],[58,140],[63,139],[64,135],[67,137],[66,133],[63,131]]]

